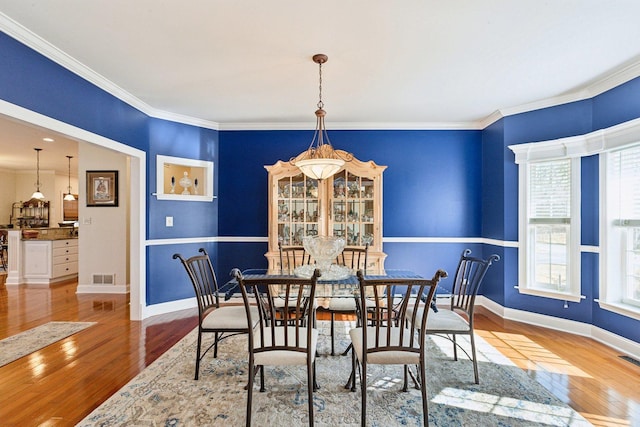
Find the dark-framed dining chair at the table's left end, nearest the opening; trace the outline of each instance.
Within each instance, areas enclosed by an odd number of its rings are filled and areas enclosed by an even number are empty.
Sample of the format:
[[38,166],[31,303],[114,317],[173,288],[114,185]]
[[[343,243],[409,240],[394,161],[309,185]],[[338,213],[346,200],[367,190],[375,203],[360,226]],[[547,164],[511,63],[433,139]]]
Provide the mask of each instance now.
[[[246,334],[256,325],[255,322],[248,321],[243,306],[220,306],[220,289],[209,254],[204,248],[200,248],[198,252],[201,255],[187,259],[181,254],[173,255],[173,259],[179,259],[187,271],[198,301],[198,347],[194,378],[196,380],[200,375],[200,362],[211,348],[213,348],[213,357],[218,357],[220,341],[233,335]],[[257,315],[256,307],[251,310]],[[251,328],[249,325],[252,325]],[[212,333],[215,337],[213,343],[203,352],[202,335],[205,333]]]

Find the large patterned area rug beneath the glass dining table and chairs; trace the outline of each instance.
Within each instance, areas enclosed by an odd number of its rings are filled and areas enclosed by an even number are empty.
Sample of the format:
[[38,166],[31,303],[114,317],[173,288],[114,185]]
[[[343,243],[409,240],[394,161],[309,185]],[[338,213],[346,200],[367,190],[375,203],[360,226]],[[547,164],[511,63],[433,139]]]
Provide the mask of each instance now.
[[[320,356],[316,369],[315,424],[360,425],[360,391],[344,389],[351,357],[327,356],[328,322],[318,322]],[[353,325],[337,322],[338,348],[349,343]],[[247,382],[246,336],[224,341],[218,358],[207,355],[200,379],[193,379],[197,331],[188,334],[147,369],[89,414],[80,426],[242,426]],[[451,344],[430,339],[428,363],[429,422],[432,426],[586,426],[580,414],[478,337],[480,384],[473,383],[468,360],[453,361]],[[419,390],[403,393],[401,366],[368,369],[369,426],[422,425]],[[256,426],[307,425],[306,369],[268,367],[267,391],[253,394]]]

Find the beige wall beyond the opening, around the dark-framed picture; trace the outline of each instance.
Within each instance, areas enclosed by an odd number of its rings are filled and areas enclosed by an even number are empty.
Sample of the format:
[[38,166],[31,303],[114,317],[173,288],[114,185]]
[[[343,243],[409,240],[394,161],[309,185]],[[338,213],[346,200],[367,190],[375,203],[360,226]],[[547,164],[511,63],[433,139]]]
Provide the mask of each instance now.
[[[79,272],[78,292],[122,292],[128,286],[129,166],[127,156],[93,144],[78,144],[78,170],[118,171],[118,206],[88,207],[86,182],[78,191]],[[115,285],[102,289],[93,283],[94,274],[115,274]]]

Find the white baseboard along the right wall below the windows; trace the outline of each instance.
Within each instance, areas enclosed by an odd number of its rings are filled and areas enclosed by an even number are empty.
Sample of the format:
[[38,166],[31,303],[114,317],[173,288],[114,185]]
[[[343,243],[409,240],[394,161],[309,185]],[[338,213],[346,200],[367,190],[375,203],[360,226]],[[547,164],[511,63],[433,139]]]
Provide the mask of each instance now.
[[640,360],[640,343],[631,341],[630,339],[621,337],[602,328],[598,328],[597,326],[593,326],[588,323],[576,322],[574,320],[547,316],[544,314],[531,313],[524,310],[505,308],[482,295],[478,295],[476,298],[476,304],[486,308],[503,319],[592,338],[608,347],[631,356],[636,360]]

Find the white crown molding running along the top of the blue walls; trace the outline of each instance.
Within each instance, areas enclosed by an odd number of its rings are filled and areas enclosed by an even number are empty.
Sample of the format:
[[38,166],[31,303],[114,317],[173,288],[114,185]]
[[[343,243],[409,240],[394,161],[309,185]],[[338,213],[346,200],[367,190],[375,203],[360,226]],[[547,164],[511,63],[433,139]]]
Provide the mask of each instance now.
[[[8,34],[19,42],[25,44],[36,52],[51,59],[62,67],[77,74],[90,83],[98,86],[107,93],[115,96],[123,102],[131,105],[132,107],[140,110],[144,114],[150,117],[159,118],[163,120],[169,120],[177,123],[184,123],[187,125],[193,125],[213,130],[300,130],[300,129],[313,129],[309,128],[308,124],[301,123],[217,123],[210,120],[199,119],[195,117],[184,116],[181,114],[175,114],[168,111],[158,110],[151,107],[147,103],[143,102],[139,98],[133,96],[126,90],[117,86],[110,80],[106,79],[101,74],[95,72],[91,68],[82,64],[78,60],[69,56],[62,50],[53,46],[40,36],[29,31],[24,26],[15,22],[8,16],[0,12],[0,31]],[[622,83],[628,82],[636,77],[640,76],[640,61],[624,66],[619,70],[612,71],[609,75],[595,81],[594,83],[585,86],[579,90],[534,101],[527,104],[522,104],[514,107],[500,108],[493,112],[491,115],[484,119],[480,119],[473,122],[452,122],[452,123],[342,123],[332,124],[332,129],[340,130],[482,130],[490,124],[500,120],[503,117],[507,117],[514,114],[525,113],[532,110],[554,107],[561,104],[580,101],[599,95],[607,90],[613,89]]]

